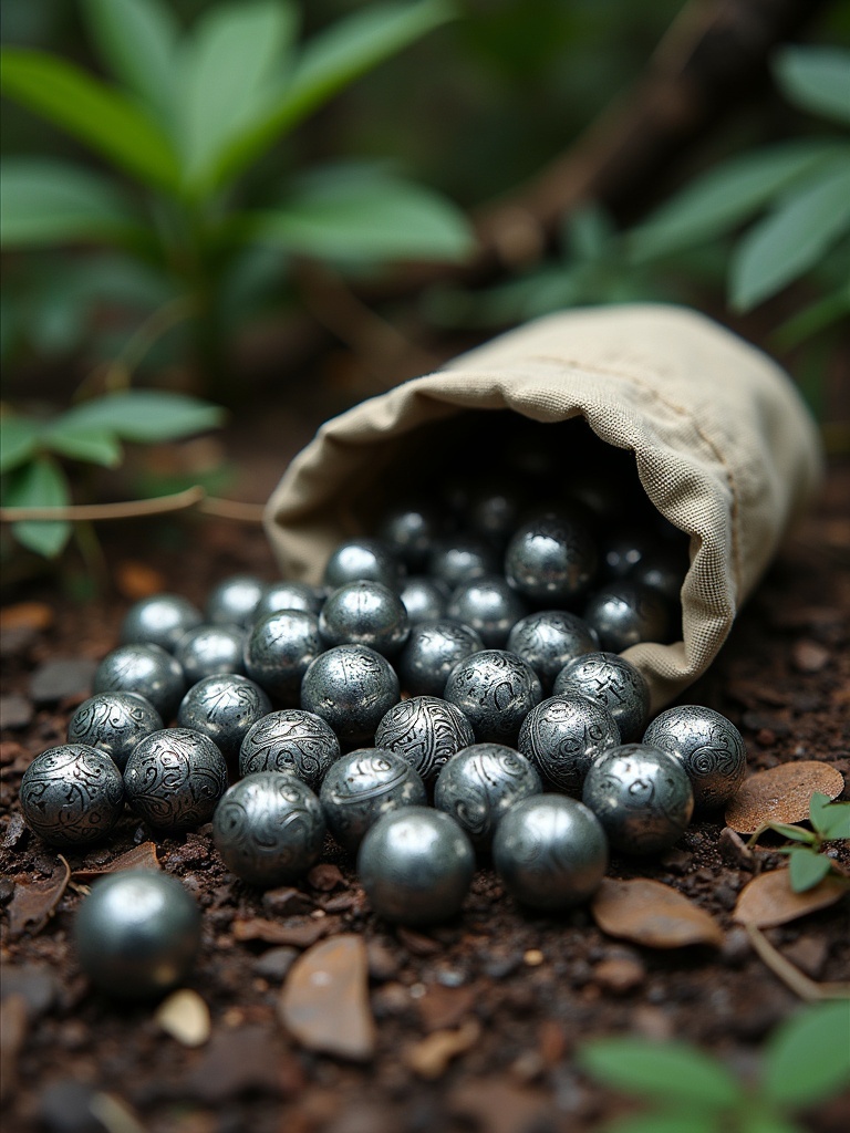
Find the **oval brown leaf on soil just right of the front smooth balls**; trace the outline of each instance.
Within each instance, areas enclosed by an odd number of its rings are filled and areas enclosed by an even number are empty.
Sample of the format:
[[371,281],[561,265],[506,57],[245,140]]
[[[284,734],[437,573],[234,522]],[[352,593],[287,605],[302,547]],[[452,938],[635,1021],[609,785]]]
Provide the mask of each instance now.
[[723,929],[677,889],[648,878],[618,881],[606,877],[596,891],[592,911],[609,936],[651,948],[681,948],[687,944],[723,944]]

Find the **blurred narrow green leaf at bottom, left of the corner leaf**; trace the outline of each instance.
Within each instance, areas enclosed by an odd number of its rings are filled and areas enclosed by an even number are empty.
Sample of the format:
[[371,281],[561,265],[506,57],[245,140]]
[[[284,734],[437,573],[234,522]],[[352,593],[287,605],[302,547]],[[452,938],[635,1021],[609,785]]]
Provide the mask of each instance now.
[[578,1063],[604,1085],[656,1101],[722,1109],[742,1097],[722,1063],[683,1043],[598,1039],[579,1049]]

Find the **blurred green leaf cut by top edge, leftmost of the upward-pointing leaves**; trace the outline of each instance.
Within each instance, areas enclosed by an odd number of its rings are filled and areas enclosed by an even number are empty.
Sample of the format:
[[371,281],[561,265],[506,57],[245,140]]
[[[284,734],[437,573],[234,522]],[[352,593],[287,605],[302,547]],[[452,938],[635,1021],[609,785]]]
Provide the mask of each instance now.
[[82,0],[100,57],[156,114],[165,129],[175,111],[180,27],[162,0]]

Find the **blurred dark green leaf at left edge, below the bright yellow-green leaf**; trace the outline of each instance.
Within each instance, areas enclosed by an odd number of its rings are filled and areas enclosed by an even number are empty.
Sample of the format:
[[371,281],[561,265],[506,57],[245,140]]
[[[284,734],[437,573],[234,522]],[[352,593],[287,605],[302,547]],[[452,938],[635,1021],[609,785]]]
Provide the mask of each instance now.
[[137,228],[119,189],[97,173],[50,157],[8,157],[0,167],[3,248],[113,239]]

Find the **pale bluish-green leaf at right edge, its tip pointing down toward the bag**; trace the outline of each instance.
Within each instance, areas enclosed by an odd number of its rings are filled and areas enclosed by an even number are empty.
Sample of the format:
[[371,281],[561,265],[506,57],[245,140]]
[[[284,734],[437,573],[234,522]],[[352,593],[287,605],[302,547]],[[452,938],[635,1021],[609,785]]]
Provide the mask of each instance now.
[[797,279],[850,227],[850,159],[833,162],[739,241],[730,301],[749,310]]

